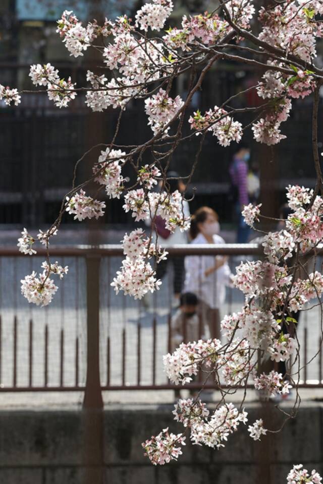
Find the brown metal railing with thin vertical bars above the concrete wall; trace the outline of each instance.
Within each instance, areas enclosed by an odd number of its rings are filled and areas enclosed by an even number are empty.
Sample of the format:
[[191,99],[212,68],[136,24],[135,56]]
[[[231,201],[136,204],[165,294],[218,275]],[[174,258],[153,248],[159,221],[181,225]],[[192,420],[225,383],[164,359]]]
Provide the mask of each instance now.
[[[241,257],[262,253],[254,244],[181,245],[167,250],[170,261],[188,255],[227,255],[232,272]],[[110,285],[121,265],[121,246],[53,247],[50,253],[70,271],[58,282],[51,305],[38,308],[19,293],[20,279],[39,271],[45,251],[28,257],[0,248],[0,392],[81,390],[93,406],[100,403],[104,390],[174,389],[162,365],[162,355],[171,348],[172,268],[150,299],[134,300],[116,295]],[[243,295],[229,288],[222,316],[242,305]],[[184,339],[185,332],[183,328]],[[317,307],[303,313],[298,338],[304,365],[300,385],[322,387]],[[305,365],[317,351],[317,358]],[[198,386],[198,380],[191,384]]]

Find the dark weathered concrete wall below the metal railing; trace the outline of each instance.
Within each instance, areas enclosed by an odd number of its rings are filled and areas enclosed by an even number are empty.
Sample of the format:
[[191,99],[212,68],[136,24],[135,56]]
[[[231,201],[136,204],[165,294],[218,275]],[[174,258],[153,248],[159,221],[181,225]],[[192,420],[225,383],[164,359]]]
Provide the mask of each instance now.
[[[279,428],[281,417],[271,408],[265,409],[266,419]],[[154,467],[141,442],[168,426],[181,431],[171,418],[172,407],[113,406],[102,418],[102,455],[95,442],[90,445],[102,463],[104,482],[112,484],[280,484],[296,463],[322,471],[322,408],[302,406],[282,432],[261,443],[253,442],[243,426],[224,449],[188,445],[177,463]],[[246,410],[250,420],[259,416],[256,406]],[[86,429],[84,414],[77,411],[0,412],[0,483],[81,484],[89,453],[83,446]]]

